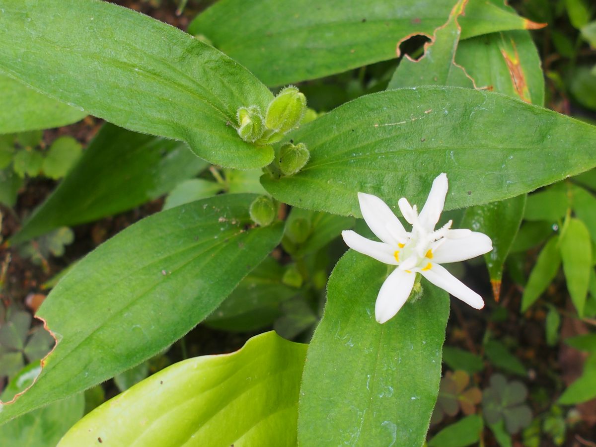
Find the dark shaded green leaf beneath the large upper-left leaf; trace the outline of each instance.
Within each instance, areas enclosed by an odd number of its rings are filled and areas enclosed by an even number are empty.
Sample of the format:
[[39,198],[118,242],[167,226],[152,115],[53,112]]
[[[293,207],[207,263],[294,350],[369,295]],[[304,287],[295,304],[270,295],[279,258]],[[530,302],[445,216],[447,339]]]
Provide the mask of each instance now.
[[105,124],[13,243],[132,209],[206,166],[184,143]]

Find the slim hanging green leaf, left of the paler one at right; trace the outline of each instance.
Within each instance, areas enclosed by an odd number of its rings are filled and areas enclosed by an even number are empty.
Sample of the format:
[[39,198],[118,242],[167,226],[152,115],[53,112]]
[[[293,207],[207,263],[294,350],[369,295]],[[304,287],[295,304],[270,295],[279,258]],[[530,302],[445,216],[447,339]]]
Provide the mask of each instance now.
[[546,245],[536,259],[536,264],[530,272],[526,288],[522,295],[522,312],[533,305],[533,303],[547,290],[548,285],[557,275],[561,266],[561,252],[559,250],[559,237],[554,236],[548,240]]

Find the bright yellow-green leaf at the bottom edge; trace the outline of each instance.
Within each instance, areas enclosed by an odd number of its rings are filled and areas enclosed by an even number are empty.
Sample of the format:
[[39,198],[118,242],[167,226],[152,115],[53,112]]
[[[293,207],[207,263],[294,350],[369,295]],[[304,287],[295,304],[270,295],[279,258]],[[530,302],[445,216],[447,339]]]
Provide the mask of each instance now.
[[235,353],[178,362],[86,415],[58,445],[294,446],[305,355],[306,344],[268,332]]

